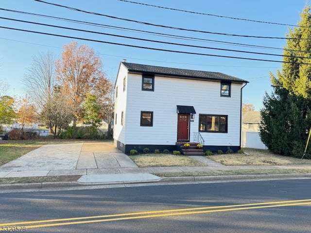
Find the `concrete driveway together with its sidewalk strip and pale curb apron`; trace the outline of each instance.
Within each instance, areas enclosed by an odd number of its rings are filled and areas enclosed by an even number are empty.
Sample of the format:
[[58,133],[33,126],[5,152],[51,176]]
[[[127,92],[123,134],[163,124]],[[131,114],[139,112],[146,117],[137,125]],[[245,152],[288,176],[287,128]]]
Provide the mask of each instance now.
[[112,142],[48,144],[0,166],[0,178],[81,175],[78,183],[109,184],[160,180],[148,172]]

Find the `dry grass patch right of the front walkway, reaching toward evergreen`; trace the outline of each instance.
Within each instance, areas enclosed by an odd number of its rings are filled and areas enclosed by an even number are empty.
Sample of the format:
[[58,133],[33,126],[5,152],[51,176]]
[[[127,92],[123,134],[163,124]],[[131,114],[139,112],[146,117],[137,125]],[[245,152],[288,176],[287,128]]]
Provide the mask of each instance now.
[[226,166],[311,164],[311,160],[277,155],[269,150],[243,149],[247,154],[218,154],[207,158]]

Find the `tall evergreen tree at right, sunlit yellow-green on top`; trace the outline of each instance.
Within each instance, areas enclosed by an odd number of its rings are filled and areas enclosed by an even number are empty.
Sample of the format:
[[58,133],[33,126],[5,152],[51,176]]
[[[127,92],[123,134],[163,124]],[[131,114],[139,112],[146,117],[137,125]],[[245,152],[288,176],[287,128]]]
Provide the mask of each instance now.
[[[298,27],[289,30],[282,70],[270,73],[273,92],[260,111],[260,137],[269,150],[301,157],[311,127],[311,13],[306,6]],[[309,38],[309,39],[307,39]],[[311,150],[307,151],[310,157]]]

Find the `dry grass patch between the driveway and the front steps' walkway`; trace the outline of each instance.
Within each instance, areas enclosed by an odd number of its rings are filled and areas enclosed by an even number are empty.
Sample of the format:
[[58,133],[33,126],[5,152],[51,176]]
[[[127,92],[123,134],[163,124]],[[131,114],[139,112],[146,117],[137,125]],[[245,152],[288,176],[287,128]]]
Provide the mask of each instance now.
[[140,154],[129,155],[139,167],[146,166],[206,166],[205,164],[184,155]]

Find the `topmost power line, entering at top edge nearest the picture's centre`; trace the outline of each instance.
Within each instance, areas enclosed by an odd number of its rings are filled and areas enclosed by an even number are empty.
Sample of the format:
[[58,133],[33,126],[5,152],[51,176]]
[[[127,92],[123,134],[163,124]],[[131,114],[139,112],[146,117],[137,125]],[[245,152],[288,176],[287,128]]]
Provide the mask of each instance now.
[[[197,14],[197,15],[230,18],[230,19],[244,20],[244,21],[250,21],[250,22],[256,22],[256,23],[268,23],[268,24],[276,24],[276,25],[282,25],[282,26],[298,27],[297,25],[292,25],[292,24],[274,23],[274,22],[266,22],[266,21],[259,21],[259,20],[246,19],[246,18],[228,17],[228,16],[218,16],[218,15],[212,15],[212,14],[194,12],[194,11],[187,11],[187,10],[181,10],[181,9],[176,9],[176,8],[164,7],[164,6],[156,6],[156,5],[151,5],[151,4],[146,4],[146,3],[136,2],[136,1],[129,1],[129,0],[119,0],[119,1],[125,1],[125,2],[129,2],[129,3],[135,3],[135,4],[139,4],[139,5],[144,5],[144,6],[152,6],[152,7],[157,7],[157,8],[167,9],[167,10],[173,10],[173,11],[181,11],[181,12]],[[299,26],[299,27],[310,28],[307,26]]]

